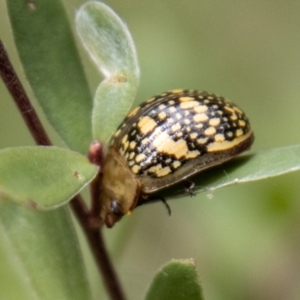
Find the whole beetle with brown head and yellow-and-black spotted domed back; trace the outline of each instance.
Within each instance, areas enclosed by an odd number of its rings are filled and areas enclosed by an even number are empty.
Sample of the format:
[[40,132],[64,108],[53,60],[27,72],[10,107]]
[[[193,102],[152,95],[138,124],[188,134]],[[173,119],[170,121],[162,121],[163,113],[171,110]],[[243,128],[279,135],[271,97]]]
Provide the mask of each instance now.
[[250,148],[244,112],[197,90],[173,90],[142,103],[109,144],[101,179],[101,218],[112,227],[152,193]]

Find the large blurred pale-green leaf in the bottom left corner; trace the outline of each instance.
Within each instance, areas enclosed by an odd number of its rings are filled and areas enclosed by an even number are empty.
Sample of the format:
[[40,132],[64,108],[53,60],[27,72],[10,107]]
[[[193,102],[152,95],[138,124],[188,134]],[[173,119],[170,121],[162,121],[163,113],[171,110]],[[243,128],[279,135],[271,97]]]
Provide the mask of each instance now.
[[92,299],[67,209],[0,200],[0,254],[1,299]]

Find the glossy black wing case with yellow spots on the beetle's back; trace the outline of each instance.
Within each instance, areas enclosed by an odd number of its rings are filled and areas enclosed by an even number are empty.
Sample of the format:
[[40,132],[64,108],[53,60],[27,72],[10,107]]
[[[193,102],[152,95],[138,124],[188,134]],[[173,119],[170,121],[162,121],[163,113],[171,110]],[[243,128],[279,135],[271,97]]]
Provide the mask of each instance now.
[[111,145],[134,174],[160,178],[250,137],[248,118],[229,100],[197,90],[172,90],[134,109]]

